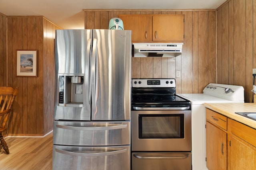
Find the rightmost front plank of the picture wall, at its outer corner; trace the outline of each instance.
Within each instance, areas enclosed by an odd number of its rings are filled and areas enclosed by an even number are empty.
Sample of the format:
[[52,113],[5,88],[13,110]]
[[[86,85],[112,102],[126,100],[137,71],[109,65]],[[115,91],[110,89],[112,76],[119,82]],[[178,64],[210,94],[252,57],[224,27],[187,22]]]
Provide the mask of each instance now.
[[[44,27],[43,18],[36,18],[36,49],[37,49],[37,77],[36,77],[36,133],[45,134],[44,127],[44,101],[47,105],[49,100],[44,100],[44,93],[47,89],[44,88]],[[52,99],[50,99],[52,101]],[[47,108],[47,107],[46,107]]]

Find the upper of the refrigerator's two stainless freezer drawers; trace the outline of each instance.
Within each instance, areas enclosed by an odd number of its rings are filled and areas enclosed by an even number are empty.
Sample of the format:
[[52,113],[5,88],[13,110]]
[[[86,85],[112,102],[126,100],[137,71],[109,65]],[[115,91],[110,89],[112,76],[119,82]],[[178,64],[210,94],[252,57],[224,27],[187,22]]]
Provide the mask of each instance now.
[[130,145],[130,121],[54,121],[54,145]]

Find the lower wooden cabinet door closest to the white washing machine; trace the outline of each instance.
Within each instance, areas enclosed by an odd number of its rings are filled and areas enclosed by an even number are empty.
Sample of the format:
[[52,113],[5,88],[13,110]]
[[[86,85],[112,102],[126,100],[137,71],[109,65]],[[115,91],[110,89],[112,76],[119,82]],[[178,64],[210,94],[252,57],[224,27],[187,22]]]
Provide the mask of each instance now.
[[227,170],[227,133],[206,122],[206,166],[209,170]]

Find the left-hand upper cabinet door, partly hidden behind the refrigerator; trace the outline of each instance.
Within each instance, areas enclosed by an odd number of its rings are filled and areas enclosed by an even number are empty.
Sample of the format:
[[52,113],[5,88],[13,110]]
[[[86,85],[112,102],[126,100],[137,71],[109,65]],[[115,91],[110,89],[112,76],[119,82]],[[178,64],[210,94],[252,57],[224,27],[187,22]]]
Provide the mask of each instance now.
[[132,30],[132,41],[152,41],[152,16],[120,15],[125,30]]

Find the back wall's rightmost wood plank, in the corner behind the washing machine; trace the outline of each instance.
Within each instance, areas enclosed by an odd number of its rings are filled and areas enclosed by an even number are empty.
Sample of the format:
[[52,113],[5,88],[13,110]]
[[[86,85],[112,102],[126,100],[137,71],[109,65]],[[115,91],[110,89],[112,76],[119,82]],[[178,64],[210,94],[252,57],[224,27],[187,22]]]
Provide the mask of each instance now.
[[216,83],[217,82],[217,60],[216,60],[216,11],[209,11],[209,23],[208,23],[208,65],[209,65],[209,83]]

